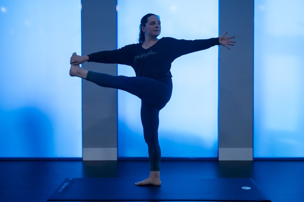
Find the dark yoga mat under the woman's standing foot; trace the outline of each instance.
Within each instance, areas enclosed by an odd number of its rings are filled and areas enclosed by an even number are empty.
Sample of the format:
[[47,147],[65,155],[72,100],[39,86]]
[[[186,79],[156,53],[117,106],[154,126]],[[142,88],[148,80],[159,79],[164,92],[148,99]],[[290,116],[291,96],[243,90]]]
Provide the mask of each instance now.
[[48,200],[271,201],[251,178],[161,178],[136,186],[133,178],[66,178]]

